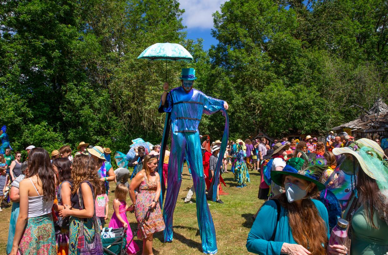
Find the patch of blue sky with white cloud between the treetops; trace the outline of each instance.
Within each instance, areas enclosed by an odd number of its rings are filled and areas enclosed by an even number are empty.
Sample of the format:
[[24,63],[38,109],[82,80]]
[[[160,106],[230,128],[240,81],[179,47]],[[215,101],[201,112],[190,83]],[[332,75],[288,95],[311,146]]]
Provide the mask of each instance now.
[[187,26],[187,38],[196,40],[203,38],[203,49],[208,50],[210,45],[217,44],[217,40],[211,36],[213,17],[220,10],[225,0],[179,0],[180,8],[185,9],[182,23]]

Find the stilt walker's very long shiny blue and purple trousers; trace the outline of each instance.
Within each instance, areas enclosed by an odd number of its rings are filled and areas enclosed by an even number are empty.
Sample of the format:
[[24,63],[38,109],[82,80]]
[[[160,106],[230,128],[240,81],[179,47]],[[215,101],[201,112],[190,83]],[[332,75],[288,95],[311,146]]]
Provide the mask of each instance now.
[[199,132],[173,133],[171,132],[171,151],[168,162],[167,194],[163,208],[163,219],[166,228],[163,231],[165,242],[173,239],[173,213],[177,203],[180,184],[182,183],[182,164],[187,152],[187,160],[191,167],[191,174],[196,191],[197,220],[201,234],[202,250],[204,253],[217,253],[216,232],[211,218],[205,194],[205,179],[203,176],[201,140]]

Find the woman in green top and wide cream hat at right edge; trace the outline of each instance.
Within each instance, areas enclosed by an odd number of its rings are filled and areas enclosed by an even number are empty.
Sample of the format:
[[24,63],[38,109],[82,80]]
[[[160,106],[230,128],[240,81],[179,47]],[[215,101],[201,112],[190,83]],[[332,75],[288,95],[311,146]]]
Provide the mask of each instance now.
[[[340,168],[357,176],[344,218],[350,222],[351,255],[385,255],[388,252],[388,167],[375,141],[362,138],[349,147],[334,148],[345,154]],[[356,179],[356,178],[353,178]]]

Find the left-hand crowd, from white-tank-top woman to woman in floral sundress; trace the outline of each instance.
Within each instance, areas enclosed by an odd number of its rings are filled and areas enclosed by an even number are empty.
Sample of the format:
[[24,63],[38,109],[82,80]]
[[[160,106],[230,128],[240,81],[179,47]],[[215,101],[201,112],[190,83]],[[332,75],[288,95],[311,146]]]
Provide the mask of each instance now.
[[[84,142],[77,149],[72,156],[71,148],[62,146],[50,157],[45,149],[31,145],[26,148],[24,162],[20,152],[11,157],[10,149],[5,150],[3,158],[10,162],[5,160],[0,166],[0,186],[4,193],[10,186],[7,197],[12,201],[7,254],[78,255],[85,249],[92,252],[88,254],[102,254],[101,231],[110,211],[109,182],[117,181],[107,157],[111,151]],[[147,214],[137,231],[137,238],[143,240],[142,254],[152,254],[153,233],[165,227],[158,204],[161,186],[157,165],[157,156],[146,155],[131,185],[127,174],[127,180],[115,188],[107,227],[126,230],[127,254],[140,249],[132,241],[126,212],[134,212],[139,224]],[[128,194],[131,205],[126,204]]]

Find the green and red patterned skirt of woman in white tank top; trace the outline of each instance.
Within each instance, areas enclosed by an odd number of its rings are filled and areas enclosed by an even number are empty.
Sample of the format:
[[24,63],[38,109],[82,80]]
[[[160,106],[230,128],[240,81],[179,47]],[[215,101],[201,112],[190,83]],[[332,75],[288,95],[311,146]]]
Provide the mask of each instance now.
[[52,214],[28,218],[27,227],[20,240],[22,255],[56,255],[55,232]]

